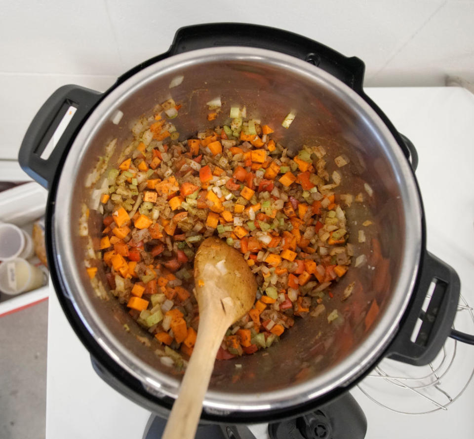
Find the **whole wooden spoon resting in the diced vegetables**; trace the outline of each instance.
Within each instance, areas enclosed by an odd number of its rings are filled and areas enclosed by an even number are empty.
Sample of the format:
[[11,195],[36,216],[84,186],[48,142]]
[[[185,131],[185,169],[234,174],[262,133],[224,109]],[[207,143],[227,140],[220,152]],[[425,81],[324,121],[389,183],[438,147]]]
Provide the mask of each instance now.
[[227,329],[255,302],[257,282],[236,249],[207,238],[194,261],[199,330],[162,439],[193,439],[217,351]]

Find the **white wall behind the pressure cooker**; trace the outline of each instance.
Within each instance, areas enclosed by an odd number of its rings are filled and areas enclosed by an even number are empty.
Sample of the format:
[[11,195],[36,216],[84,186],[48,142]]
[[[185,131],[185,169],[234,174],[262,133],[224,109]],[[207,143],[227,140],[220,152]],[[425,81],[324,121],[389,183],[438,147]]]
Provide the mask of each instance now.
[[474,1],[0,0],[0,158],[14,158],[55,88],[98,90],[164,52],[177,28],[236,21],[286,29],[366,63],[365,84],[474,82]]

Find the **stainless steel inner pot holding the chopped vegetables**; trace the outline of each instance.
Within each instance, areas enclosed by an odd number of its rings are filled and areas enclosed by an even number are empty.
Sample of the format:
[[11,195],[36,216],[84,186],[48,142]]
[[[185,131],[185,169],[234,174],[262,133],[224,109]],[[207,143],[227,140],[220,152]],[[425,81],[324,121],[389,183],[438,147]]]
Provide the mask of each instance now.
[[[171,80],[180,75],[183,82],[169,88]],[[222,113],[216,121],[208,122],[205,103],[216,96],[222,99]],[[130,141],[133,123],[170,97],[183,106],[173,120],[180,140],[224,124],[231,105],[245,105],[247,116],[275,127],[273,138],[290,151],[303,144],[324,146],[329,173],[336,169],[334,157],[346,154],[350,163],[339,169],[343,182],[338,192],[361,192],[364,196],[363,203],[346,208],[346,216],[349,242],[355,245],[356,256],[365,254],[367,262],[349,270],[333,290],[334,301],[328,305],[344,313],[345,323],[334,331],[327,322],[324,325],[313,317],[296,319],[295,327],[285,331],[270,349],[216,362],[204,410],[227,414],[282,409],[349,385],[380,357],[407,306],[422,245],[420,200],[406,158],[374,110],[330,74],[274,51],[233,46],[172,56],[121,83],[85,121],[60,176],[52,232],[66,292],[84,325],[107,354],[148,392],[176,397],[180,372],[163,366],[154,349],[137,340],[136,335],[146,333],[112,296],[109,300],[97,296],[84,269],[87,239],[78,234],[81,206],[90,205],[91,190],[101,185],[85,187],[84,182],[105,154],[105,147],[118,139],[110,169]],[[280,124],[292,109],[297,115],[286,130]],[[123,117],[114,124],[118,110]],[[372,196],[364,183],[373,189]],[[89,235],[94,243],[101,236],[98,217],[91,211]],[[374,225],[362,227],[365,219]],[[366,242],[360,244],[357,233],[362,228]],[[384,266],[371,265],[372,238],[380,241]],[[99,279],[107,288],[101,268]],[[360,288],[341,302],[342,291],[353,280]],[[364,315],[373,298],[380,313],[374,325],[365,330]],[[130,332],[123,329],[124,323]],[[347,337],[352,338],[352,345],[345,342]],[[150,337],[150,342],[158,348],[156,340]]]

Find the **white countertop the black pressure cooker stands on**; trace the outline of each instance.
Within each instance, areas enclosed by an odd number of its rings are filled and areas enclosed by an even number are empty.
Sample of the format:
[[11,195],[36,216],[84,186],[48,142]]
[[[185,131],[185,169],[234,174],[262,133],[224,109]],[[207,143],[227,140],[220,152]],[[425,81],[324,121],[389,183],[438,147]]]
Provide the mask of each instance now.
[[[428,250],[458,272],[461,293],[474,305],[474,96],[460,88],[370,88],[366,92],[416,146]],[[48,319],[46,438],[141,438],[150,413],[95,374],[53,291]],[[352,393],[367,416],[367,439],[473,436],[473,382],[448,410],[419,416],[389,412],[360,390]],[[262,433],[264,428],[257,426],[254,431]]]

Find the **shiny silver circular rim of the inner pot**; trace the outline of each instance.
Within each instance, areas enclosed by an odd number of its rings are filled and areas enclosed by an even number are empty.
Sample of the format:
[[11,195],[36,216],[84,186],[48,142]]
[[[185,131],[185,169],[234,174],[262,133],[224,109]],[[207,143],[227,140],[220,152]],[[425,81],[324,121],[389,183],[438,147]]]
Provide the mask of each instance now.
[[[308,81],[329,89],[360,117],[371,121],[374,136],[380,139],[387,159],[399,177],[398,189],[404,204],[406,224],[400,273],[392,299],[376,327],[354,352],[331,369],[303,383],[261,394],[227,394],[208,391],[203,409],[209,413],[228,414],[234,411],[267,411],[304,404],[329,393],[338,387],[347,387],[359,375],[371,367],[395,336],[398,324],[413,291],[422,251],[422,207],[416,182],[409,164],[395,138],[378,114],[350,87],[339,79],[295,57],[267,49],[240,46],[221,46],[199,49],[173,55],[133,74],[113,89],[92,111],[74,139],[66,157],[55,196],[52,238],[55,241],[56,263],[59,275],[66,286],[75,311],[89,333],[101,348],[123,369],[137,378],[152,394],[176,398],[179,381],[161,373],[158,369],[134,357],[122,346],[114,334],[101,325],[90,299],[82,286],[79,264],[72,249],[71,206],[73,191],[71,182],[78,179],[78,163],[90,146],[96,131],[106,122],[121,103],[141,86],[158,76],[180,71],[197,63],[216,61],[252,61],[291,70]],[[402,184],[404,183],[404,184]],[[59,256],[59,257],[58,257]]]

